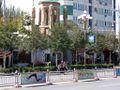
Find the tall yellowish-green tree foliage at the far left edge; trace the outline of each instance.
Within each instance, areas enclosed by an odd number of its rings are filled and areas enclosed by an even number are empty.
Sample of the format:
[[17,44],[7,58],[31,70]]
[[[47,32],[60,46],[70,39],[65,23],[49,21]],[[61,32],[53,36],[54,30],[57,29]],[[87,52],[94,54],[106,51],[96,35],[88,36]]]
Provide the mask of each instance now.
[[7,8],[5,18],[0,21],[0,47],[8,50],[17,48],[18,35],[14,32],[22,31],[23,12],[14,7]]

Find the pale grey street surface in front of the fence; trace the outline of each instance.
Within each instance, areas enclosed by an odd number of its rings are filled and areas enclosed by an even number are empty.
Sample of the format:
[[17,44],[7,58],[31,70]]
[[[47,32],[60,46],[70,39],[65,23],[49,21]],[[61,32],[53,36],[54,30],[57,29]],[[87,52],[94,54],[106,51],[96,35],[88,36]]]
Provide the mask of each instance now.
[[12,90],[120,90],[120,78],[99,81],[79,81],[49,86],[14,88]]

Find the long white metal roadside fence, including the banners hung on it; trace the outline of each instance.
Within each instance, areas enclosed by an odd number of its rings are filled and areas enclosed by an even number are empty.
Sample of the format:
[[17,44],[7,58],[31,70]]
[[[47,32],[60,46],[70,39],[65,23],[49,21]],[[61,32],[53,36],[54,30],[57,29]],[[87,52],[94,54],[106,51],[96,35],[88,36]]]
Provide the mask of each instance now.
[[59,83],[68,81],[78,81],[81,79],[113,78],[116,76],[115,69],[84,69],[71,71],[47,71],[21,74],[1,74],[1,86],[15,86],[35,83]]

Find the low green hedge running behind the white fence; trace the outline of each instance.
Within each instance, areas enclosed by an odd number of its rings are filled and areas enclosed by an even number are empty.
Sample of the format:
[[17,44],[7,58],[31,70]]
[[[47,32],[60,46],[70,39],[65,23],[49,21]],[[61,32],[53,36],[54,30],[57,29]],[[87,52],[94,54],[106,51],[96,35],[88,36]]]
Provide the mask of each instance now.
[[[70,70],[75,69],[95,69],[95,68],[113,68],[113,64],[86,64],[86,65],[81,65],[81,64],[76,64],[76,65],[69,65],[68,68]],[[14,73],[16,70],[19,72],[34,72],[34,71],[56,71],[57,67],[56,66],[37,66],[37,67],[11,67],[11,68],[1,68],[0,73]]]

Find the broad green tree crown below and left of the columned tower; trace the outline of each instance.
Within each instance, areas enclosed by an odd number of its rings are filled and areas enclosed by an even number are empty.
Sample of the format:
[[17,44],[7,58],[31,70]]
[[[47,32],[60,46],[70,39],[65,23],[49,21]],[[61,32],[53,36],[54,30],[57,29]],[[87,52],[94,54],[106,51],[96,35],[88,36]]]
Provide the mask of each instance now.
[[28,53],[34,52],[37,49],[47,49],[48,37],[40,33],[38,29],[32,30],[25,34],[26,36],[19,42],[19,50]]

